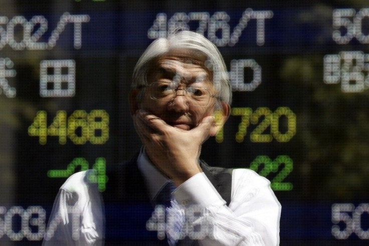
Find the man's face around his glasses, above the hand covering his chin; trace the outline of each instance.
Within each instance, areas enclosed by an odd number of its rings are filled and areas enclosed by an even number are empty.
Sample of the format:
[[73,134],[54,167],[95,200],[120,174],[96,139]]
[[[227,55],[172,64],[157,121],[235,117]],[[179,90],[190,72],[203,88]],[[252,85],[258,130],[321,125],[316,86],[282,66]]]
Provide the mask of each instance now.
[[[197,86],[207,88],[211,94],[215,94],[204,62],[205,58],[194,59],[189,57],[187,52],[168,52],[153,63],[147,74],[147,83],[150,85],[154,82],[174,82],[178,89]],[[189,105],[188,97],[184,96],[185,93],[183,90],[177,90],[175,97],[170,101],[157,101],[150,98],[149,88],[147,88],[138,107],[150,111],[170,126],[191,130],[204,117],[214,113],[216,99],[211,97],[206,107],[195,107]]]

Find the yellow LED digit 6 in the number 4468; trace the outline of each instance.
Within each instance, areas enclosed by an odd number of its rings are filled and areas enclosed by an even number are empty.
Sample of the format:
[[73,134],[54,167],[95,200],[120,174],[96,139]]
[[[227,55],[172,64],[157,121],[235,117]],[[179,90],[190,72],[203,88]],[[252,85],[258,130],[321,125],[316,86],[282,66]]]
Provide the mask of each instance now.
[[[68,118],[68,137],[74,144],[85,144],[88,140],[87,113],[84,110],[75,110]],[[81,136],[76,134],[77,129],[81,129]]]

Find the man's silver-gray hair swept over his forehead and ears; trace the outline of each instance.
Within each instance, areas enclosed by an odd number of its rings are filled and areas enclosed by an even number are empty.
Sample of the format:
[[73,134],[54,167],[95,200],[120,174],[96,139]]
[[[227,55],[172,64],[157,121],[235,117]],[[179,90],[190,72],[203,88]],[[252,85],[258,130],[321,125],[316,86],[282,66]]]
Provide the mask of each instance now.
[[231,104],[232,89],[228,71],[218,48],[203,35],[191,31],[179,31],[169,34],[167,38],[154,40],[138,60],[134,71],[132,88],[147,85],[147,73],[150,64],[156,58],[173,49],[185,49],[199,52],[207,57],[205,66],[213,72],[213,84],[219,100]]

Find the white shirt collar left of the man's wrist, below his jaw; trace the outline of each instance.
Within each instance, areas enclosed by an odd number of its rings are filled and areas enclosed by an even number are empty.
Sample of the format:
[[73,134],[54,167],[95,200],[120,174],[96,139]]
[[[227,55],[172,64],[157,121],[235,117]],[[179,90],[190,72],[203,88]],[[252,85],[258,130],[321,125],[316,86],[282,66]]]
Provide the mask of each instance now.
[[140,153],[137,158],[138,169],[141,171],[143,178],[146,182],[146,187],[148,188],[150,194],[150,200],[152,200],[156,193],[161,190],[161,188],[167,182],[171,182],[169,178],[163,175],[152,162],[147,157],[144,146],[142,146]]

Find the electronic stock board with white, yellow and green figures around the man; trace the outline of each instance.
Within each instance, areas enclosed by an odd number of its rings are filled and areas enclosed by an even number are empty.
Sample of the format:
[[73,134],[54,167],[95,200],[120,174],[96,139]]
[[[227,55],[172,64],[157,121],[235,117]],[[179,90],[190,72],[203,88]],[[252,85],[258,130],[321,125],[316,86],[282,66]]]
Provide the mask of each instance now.
[[219,48],[232,83],[202,157],[270,180],[281,245],[369,243],[369,3],[127,2],[0,1],[0,244],[39,244],[71,174],[95,169],[104,192],[139,150],[133,67],[177,27]]

